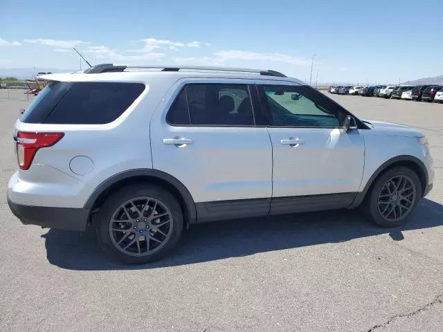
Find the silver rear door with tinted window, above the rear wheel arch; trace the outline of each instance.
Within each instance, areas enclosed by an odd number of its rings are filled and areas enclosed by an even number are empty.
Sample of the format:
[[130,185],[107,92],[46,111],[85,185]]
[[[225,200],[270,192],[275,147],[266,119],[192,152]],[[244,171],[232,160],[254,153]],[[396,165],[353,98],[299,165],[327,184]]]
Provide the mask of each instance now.
[[253,80],[182,79],[152,117],[153,167],[188,188],[199,221],[269,212],[271,140],[251,93]]

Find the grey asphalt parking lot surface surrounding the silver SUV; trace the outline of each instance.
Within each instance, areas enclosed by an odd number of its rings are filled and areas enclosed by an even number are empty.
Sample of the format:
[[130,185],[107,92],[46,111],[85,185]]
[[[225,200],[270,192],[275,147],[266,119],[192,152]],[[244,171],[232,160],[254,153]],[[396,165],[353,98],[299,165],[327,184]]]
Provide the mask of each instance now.
[[111,261],[91,232],[12,215],[12,127],[28,102],[0,99],[0,331],[442,331],[443,105],[332,98],[426,133],[435,183],[413,222],[341,210],[208,223],[145,266]]

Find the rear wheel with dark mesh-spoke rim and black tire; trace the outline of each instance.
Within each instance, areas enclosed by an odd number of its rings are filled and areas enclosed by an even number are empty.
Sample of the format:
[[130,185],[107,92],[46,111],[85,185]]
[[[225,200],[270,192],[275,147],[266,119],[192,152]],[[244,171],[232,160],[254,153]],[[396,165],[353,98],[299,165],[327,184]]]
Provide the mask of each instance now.
[[[156,215],[160,217],[154,218]],[[98,242],[105,252],[125,264],[161,259],[177,245],[182,231],[179,202],[154,185],[123,187],[109,196],[97,215]]]

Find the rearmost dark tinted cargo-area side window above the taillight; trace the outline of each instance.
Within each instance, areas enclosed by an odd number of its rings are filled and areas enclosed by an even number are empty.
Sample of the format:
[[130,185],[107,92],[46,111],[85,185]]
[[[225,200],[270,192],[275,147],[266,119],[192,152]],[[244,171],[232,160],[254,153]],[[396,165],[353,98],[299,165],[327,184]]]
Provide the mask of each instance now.
[[116,120],[145,89],[140,83],[51,82],[22,122],[105,124]]

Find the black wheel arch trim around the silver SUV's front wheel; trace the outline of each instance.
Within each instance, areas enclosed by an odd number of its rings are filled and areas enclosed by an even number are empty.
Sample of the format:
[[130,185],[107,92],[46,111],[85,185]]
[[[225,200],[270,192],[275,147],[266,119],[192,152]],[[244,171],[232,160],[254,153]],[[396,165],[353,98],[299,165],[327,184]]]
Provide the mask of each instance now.
[[426,190],[426,185],[428,185],[428,171],[422,160],[419,160],[419,158],[415,156],[408,156],[408,155],[396,156],[394,158],[387,160],[379,168],[376,169],[376,171],[372,174],[372,176],[369,178],[368,182],[366,183],[365,187],[363,188],[363,191],[358,192],[356,194],[354,201],[352,201],[350,205],[350,208],[356,208],[363,202],[366,194],[370,191],[372,185],[377,180],[377,178],[381,176],[381,174],[385,173],[389,169],[401,166],[408,167],[417,174],[417,176],[420,179],[420,184],[422,185],[422,196],[423,196]]

